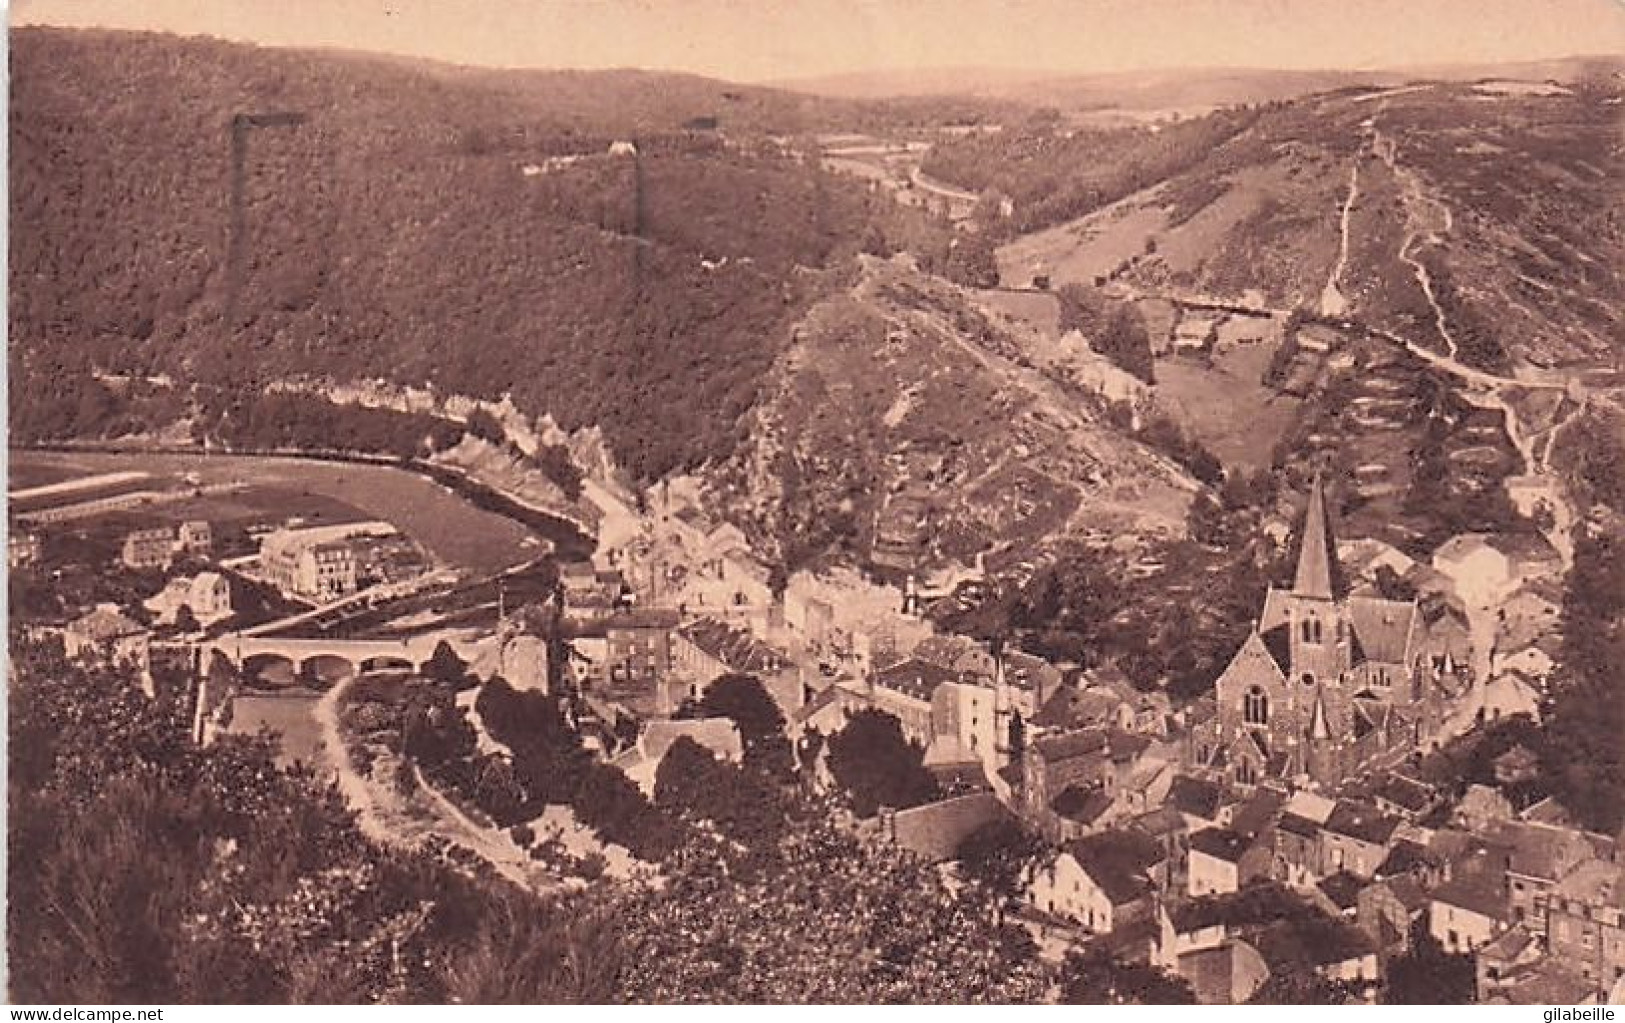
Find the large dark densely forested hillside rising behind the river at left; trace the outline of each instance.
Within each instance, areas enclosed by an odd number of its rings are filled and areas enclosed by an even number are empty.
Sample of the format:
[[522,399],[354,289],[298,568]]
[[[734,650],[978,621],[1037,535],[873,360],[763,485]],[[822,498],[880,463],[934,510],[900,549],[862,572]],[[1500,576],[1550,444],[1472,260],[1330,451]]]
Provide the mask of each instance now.
[[[13,421],[99,422],[93,369],[379,377],[601,424],[656,477],[731,448],[804,268],[947,248],[783,143],[881,115],[850,102],[55,29],[13,34],[11,78]],[[304,120],[245,133],[226,323],[231,123],[271,112]]]

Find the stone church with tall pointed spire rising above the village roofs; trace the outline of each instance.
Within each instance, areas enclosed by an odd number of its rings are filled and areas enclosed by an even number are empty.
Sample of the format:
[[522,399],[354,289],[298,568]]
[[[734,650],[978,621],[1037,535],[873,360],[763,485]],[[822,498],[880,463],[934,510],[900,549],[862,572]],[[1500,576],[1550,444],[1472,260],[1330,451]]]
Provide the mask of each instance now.
[[1274,586],[1191,736],[1196,768],[1251,786],[1334,786],[1375,760],[1394,763],[1436,732],[1467,687],[1433,650],[1415,601],[1350,594],[1316,476],[1290,589]]

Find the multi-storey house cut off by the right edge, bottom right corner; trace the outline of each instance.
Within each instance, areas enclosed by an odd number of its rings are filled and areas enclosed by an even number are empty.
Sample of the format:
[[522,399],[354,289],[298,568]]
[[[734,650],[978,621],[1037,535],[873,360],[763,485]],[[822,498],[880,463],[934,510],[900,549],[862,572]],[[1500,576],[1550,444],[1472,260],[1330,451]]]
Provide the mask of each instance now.
[[1550,891],[1547,943],[1596,994],[1625,979],[1625,864],[1589,859]]

